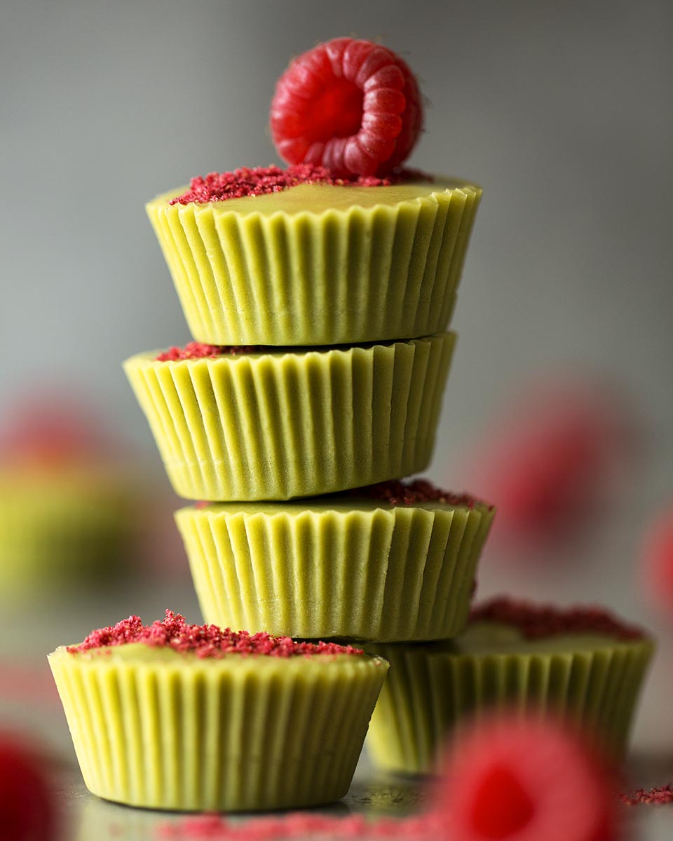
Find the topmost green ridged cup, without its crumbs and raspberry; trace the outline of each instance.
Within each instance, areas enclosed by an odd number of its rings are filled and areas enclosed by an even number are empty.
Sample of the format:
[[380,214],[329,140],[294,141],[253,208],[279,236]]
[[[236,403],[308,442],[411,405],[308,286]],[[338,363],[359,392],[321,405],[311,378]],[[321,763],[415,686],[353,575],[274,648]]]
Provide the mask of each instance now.
[[339,345],[448,325],[481,189],[303,184],[147,213],[196,341]]

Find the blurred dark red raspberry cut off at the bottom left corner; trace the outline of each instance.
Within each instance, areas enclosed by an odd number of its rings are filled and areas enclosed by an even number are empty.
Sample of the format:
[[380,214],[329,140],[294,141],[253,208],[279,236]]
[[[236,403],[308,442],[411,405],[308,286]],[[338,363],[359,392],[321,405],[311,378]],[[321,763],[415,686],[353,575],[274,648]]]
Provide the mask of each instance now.
[[56,838],[56,812],[40,760],[4,733],[0,733],[0,838]]

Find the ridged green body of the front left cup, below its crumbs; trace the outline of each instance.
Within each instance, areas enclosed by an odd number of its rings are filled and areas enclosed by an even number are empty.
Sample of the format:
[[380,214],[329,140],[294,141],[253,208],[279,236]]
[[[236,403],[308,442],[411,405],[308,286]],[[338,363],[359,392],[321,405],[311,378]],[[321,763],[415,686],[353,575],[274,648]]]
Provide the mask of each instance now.
[[256,660],[231,668],[226,659],[185,666],[52,654],[89,791],[129,806],[199,812],[344,796],[387,664],[358,655],[265,668]]

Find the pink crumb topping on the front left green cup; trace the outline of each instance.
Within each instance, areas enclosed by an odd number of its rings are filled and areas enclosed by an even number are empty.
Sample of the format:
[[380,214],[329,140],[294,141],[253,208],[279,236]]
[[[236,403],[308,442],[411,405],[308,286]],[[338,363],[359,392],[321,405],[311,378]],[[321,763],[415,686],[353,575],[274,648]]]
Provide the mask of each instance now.
[[265,654],[270,657],[296,657],[300,654],[362,654],[360,648],[337,643],[295,643],[290,637],[268,633],[231,631],[216,625],[189,625],[184,616],[166,611],[166,619],[143,625],[140,616],[129,616],[112,627],[92,631],[83,643],[68,646],[70,653],[108,648],[127,643],[143,643],[152,648],[172,648],[194,652],[199,657],[223,654]]

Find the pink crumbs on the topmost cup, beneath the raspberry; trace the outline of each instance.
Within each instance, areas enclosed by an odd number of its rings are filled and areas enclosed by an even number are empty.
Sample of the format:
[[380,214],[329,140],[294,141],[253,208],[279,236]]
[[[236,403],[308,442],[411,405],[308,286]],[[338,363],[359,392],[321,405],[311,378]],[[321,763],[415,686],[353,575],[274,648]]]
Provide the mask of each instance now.
[[281,193],[299,184],[324,184],[337,187],[389,187],[391,184],[422,178],[426,175],[414,170],[402,170],[385,178],[359,176],[352,179],[337,178],[326,167],[310,163],[281,167],[241,167],[233,172],[209,172],[206,177],[192,178],[189,189],[168,204],[190,202],[222,202],[227,198],[261,196],[264,193]]

